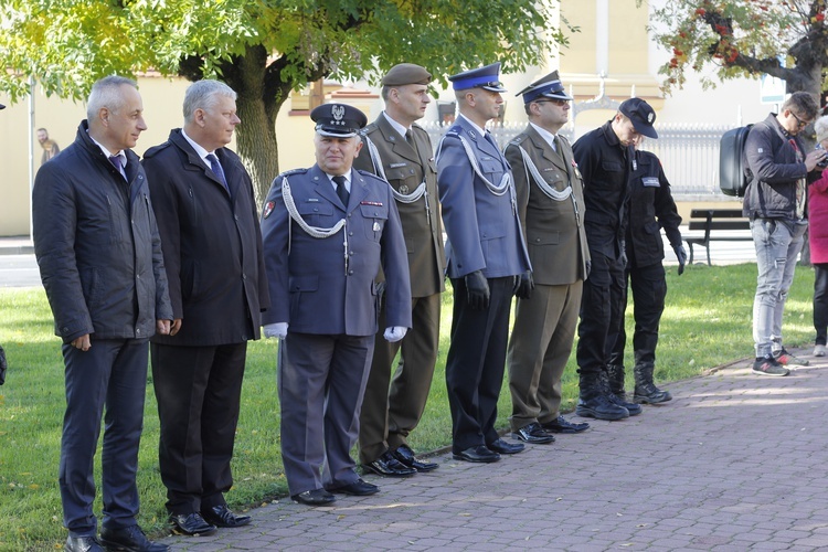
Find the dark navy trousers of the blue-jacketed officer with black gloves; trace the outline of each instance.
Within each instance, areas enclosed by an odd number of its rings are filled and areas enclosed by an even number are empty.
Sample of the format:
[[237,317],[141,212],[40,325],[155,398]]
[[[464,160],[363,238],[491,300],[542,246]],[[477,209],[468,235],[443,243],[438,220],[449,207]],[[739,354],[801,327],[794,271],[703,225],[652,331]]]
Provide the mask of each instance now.
[[488,283],[489,308],[473,309],[465,279],[452,279],[454,318],[446,386],[455,453],[498,439],[495,422],[506,368],[514,278],[489,278]]

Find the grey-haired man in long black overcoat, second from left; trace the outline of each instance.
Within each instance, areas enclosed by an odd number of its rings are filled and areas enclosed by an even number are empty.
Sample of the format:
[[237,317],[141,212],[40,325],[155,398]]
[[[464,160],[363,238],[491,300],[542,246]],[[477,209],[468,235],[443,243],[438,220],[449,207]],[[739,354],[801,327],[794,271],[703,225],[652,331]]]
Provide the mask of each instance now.
[[230,460],[247,341],[268,306],[253,185],[225,146],[236,94],[199,81],[184,95],[184,127],[147,151],[174,320],[150,346],[161,421],[159,464],[173,530],[210,534],[250,522],[227,508]]

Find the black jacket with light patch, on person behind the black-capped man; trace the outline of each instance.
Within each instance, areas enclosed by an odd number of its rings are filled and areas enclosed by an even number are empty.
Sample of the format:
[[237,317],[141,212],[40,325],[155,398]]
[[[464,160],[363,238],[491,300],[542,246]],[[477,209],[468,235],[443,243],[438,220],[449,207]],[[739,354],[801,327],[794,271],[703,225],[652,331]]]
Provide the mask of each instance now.
[[627,258],[650,266],[665,258],[661,229],[673,247],[681,246],[681,216],[670,193],[661,161],[649,151],[636,151],[637,167],[629,178]]

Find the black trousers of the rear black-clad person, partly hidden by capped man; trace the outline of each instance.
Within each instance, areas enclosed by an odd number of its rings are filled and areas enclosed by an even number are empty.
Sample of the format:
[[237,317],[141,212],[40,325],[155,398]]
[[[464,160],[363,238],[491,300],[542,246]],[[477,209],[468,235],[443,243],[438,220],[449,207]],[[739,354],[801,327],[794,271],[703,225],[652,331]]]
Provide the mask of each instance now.
[[[625,270],[626,279],[633,291],[633,317],[635,333],[633,333],[633,350],[635,365],[651,367],[656,364],[656,347],[658,346],[658,327],[661,314],[665,311],[667,297],[667,280],[665,267],[661,263],[648,266],[631,266]],[[626,284],[626,282],[625,282]],[[607,340],[609,346],[609,364],[624,365],[624,348],[627,332],[624,328],[623,314],[627,309],[627,288],[620,304],[622,320],[618,332]]]

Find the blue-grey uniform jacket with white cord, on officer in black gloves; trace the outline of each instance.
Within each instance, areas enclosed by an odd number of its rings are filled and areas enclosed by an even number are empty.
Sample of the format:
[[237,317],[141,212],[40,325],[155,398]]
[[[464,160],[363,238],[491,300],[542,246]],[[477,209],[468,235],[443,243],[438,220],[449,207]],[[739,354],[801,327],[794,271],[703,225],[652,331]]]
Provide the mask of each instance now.
[[437,185],[448,234],[448,277],[482,270],[487,278],[516,276],[530,269],[512,190],[493,194],[475,173],[459,137],[466,140],[480,172],[495,185],[511,169],[497,146],[458,117],[440,142]]

